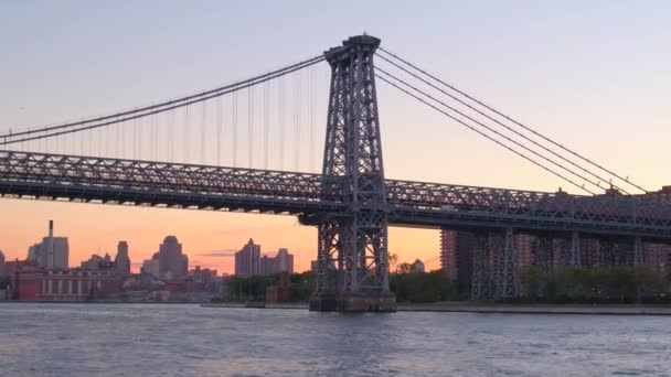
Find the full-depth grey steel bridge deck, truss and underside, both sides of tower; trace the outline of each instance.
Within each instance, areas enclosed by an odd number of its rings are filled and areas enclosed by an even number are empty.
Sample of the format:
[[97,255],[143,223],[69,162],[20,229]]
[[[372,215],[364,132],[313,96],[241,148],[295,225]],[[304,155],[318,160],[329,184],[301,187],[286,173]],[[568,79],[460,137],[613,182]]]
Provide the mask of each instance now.
[[[344,214],[321,174],[0,151],[0,196],[300,215]],[[329,193],[329,194],[324,194]],[[386,180],[390,224],[671,240],[671,205],[640,197]]]

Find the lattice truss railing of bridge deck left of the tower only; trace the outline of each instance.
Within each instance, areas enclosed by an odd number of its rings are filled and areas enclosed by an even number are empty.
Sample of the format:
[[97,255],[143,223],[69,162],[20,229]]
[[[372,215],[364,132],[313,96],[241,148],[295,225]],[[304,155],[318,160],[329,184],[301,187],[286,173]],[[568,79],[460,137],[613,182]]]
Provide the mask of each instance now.
[[319,174],[0,151],[3,181],[323,201]]

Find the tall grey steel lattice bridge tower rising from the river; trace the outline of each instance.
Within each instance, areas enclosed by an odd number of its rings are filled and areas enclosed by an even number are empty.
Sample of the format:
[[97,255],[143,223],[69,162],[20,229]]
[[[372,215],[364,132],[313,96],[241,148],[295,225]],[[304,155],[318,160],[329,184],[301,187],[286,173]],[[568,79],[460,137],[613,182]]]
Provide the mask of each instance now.
[[315,216],[318,283],[313,311],[395,311],[388,289],[387,217],[373,55],[380,40],[352,36],[324,52],[331,87],[322,196],[341,214]]

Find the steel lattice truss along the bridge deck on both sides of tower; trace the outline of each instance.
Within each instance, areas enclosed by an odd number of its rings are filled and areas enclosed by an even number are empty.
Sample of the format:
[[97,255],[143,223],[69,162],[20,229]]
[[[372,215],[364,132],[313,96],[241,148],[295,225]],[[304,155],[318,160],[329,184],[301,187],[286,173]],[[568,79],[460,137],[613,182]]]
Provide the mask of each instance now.
[[[342,205],[341,187],[321,174],[195,164],[163,163],[0,151],[0,183],[58,187],[130,191],[146,194],[235,196],[241,201]],[[490,215],[525,215],[539,219],[671,226],[671,205],[630,196],[581,196],[566,193],[503,190],[387,180],[387,202],[393,207]],[[25,188],[21,188],[25,190]],[[17,188],[17,192],[21,192]],[[94,195],[95,193],[89,193]],[[137,195],[136,195],[137,196]],[[316,206],[315,206],[316,207]],[[300,209],[299,207],[296,207]]]

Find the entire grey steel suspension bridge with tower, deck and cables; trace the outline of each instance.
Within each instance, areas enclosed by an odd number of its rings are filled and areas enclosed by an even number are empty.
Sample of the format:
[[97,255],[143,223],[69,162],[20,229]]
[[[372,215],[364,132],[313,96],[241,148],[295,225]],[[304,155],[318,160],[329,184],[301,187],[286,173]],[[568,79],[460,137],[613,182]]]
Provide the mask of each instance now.
[[[664,197],[380,43],[371,35],[353,36],[308,60],[214,89],[0,134],[0,195],[296,215],[318,228],[318,283],[310,302],[316,311],[395,310],[388,289],[390,225],[472,233],[478,298],[484,286],[490,298],[518,293],[516,234],[567,239],[569,265],[581,263],[584,237],[630,240],[632,263],[642,262],[645,243],[671,241]],[[330,86],[321,172],[301,172],[318,162],[316,67],[323,62]],[[376,80],[584,194],[387,179]],[[238,126],[245,122],[243,136]],[[223,166],[223,160],[231,165]],[[291,160],[292,169],[286,169]],[[502,241],[488,241],[492,236]]]

